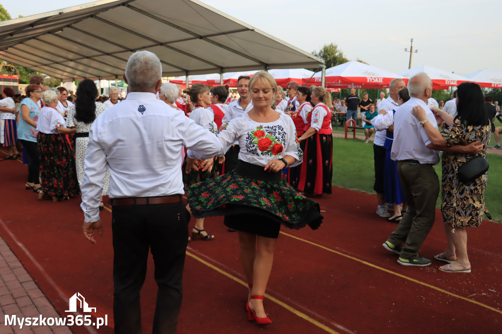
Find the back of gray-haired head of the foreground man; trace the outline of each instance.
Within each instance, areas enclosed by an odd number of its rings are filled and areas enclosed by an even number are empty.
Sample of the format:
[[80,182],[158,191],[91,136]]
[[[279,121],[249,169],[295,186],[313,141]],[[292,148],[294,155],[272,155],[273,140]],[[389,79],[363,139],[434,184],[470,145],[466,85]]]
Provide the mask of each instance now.
[[129,57],[126,78],[131,92],[145,92],[155,89],[162,77],[159,58],[150,51],[137,51]]

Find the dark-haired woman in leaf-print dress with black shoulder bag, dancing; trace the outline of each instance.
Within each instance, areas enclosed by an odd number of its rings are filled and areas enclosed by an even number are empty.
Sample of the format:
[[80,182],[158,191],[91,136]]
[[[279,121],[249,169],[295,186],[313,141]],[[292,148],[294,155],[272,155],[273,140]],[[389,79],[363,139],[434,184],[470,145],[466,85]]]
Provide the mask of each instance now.
[[[479,226],[483,214],[491,219],[484,202],[486,173],[476,180],[465,183],[458,178],[458,169],[474,156],[486,157],[486,145],[490,140],[490,122],[484,110],[483,92],[479,85],[466,82],[457,90],[457,116],[453,118],[439,108],[431,110],[448,125],[441,133],[430,122],[424,124],[425,132],[433,144],[451,146],[480,141],[483,148],[477,154],[443,152],[441,212],[445,224],[446,250],[434,256],[435,259],[448,262],[439,267],[445,272],[471,272],[467,256],[467,232],[465,227]],[[424,121],[425,111],[414,108],[413,114]],[[429,123],[429,124],[428,124]]]

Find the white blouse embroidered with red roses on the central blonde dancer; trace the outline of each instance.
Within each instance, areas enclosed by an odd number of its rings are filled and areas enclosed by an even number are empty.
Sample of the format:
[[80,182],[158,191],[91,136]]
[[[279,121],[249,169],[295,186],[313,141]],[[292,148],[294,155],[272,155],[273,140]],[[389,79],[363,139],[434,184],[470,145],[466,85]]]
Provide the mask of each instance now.
[[[260,149],[260,138],[268,139],[264,136],[257,136],[256,131],[261,127],[265,135],[270,134],[276,142],[270,143],[266,150]],[[290,167],[299,165],[302,162],[303,152],[300,144],[296,141],[296,128],[293,119],[284,112],[279,113],[279,119],[269,123],[255,122],[247,113],[242,117],[228,122],[224,130],[218,133],[218,139],[221,141],[221,151],[215,155],[222,156],[228,148],[235,142],[240,146],[239,160],[253,163],[259,166],[265,166],[272,159],[278,159],[286,155],[293,156],[296,161]],[[255,141],[258,139],[258,144]],[[279,154],[273,154],[274,144],[283,145],[283,151]],[[263,147],[261,147],[263,149]],[[194,152],[191,149],[187,151],[189,157],[202,159],[200,152]]]

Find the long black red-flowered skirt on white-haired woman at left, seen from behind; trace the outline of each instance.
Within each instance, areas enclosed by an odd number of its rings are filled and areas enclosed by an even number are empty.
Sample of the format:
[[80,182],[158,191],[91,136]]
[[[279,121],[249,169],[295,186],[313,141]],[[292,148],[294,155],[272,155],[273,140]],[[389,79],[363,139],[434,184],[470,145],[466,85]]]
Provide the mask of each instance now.
[[39,132],[42,189],[50,197],[67,199],[80,194],[75,170],[73,136]]

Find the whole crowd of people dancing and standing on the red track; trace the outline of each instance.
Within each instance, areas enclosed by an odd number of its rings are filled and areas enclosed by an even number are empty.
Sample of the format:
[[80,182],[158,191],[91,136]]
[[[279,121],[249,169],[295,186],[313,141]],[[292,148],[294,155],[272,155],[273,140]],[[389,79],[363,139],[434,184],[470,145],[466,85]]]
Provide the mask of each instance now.
[[[237,95],[224,86],[162,84],[161,75],[157,56],[140,51],[124,74],[127,97],[111,88],[107,99],[100,98],[85,79],[73,98],[64,87],[48,89],[33,76],[18,114],[12,89],[4,89],[0,103],[5,159],[21,156],[19,140],[28,165],[25,187],[40,200],[81,193],[83,234],[92,243],[95,231],[102,234],[99,211],[109,196],[115,331],[141,331],[140,291],[150,249],[159,289],[154,332],[176,332],[187,243],[215,240],[204,227],[209,216],[223,216],[229,231],[237,232],[248,319],[271,323],[264,295],[279,231],[320,227],[323,217],[312,198],[331,194],[332,118],[346,113],[355,120],[358,109],[365,142],[375,134],[376,213],[398,223],[383,247],[399,254],[401,265],[432,263],[419,249],[434,223],[440,187],[433,165],[443,151],[447,246],[435,259],[447,262],[441,271],[471,271],[465,227],[489,217],[487,178],[464,182],[458,169],[486,155],[497,112],[478,85],[461,84],[453,102],[433,106],[425,73],[407,86],[393,80],[389,96],[381,93],[374,102],[367,93],[359,99],[355,89],[332,100],[324,88],[296,82],[288,83],[284,96],[267,72],[240,76]],[[196,222],[190,238],[191,215]]]

